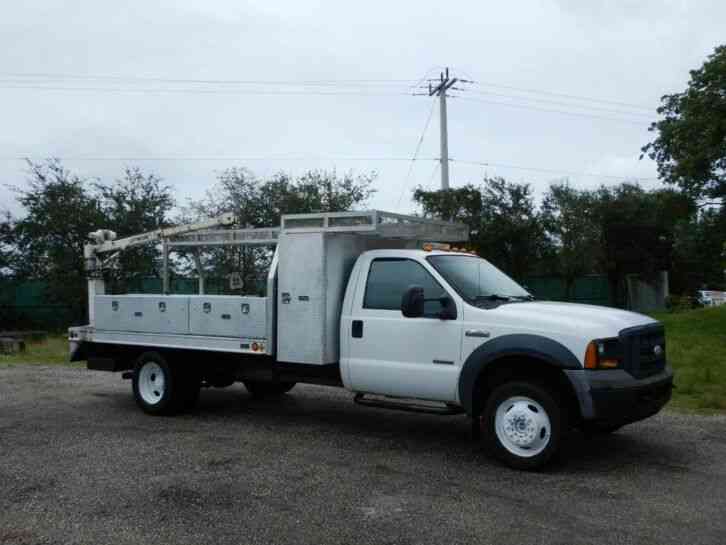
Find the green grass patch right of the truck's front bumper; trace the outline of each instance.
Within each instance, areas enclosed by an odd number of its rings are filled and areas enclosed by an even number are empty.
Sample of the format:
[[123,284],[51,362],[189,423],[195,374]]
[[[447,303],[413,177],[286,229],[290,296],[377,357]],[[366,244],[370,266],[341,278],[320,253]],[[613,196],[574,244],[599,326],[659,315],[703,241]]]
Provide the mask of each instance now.
[[676,374],[672,406],[726,411],[726,305],[653,317],[665,325]]

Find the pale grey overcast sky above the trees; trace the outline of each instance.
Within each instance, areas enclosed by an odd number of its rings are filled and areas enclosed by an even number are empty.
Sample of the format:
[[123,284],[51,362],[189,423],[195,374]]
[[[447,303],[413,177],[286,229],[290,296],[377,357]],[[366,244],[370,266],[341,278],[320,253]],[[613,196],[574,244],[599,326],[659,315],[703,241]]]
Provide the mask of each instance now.
[[[231,166],[376,170],[371,205],[411,211],[415,186],[439,184],[437,106],[410,177],[372,159],[412,157],[433,100],[411,84],[450,66],[477,82],[449,100],[452,186],[654,187],[638,156],[658,99],[724,21],[723,0],[5,2],[0,182],[22,183],[23,156],[103,179],[138,164],[183,203]],[[144,157],[163,160],[118,160]],[[17,212],[4,187],[0,209]]]

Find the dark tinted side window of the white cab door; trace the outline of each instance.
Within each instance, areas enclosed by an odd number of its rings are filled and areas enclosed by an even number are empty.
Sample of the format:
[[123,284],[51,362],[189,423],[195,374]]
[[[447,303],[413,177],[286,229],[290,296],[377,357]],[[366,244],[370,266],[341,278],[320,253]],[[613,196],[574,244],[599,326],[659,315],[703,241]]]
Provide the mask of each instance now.
[[[410,259],[375,259],[368,271],[363,308],[401,310],[401,298],[411,286],[424,289],[424,315],[438,316],[443,306],[439,301],[446,291],[419,263]],[[428,299],[432,299],[429,301]]]

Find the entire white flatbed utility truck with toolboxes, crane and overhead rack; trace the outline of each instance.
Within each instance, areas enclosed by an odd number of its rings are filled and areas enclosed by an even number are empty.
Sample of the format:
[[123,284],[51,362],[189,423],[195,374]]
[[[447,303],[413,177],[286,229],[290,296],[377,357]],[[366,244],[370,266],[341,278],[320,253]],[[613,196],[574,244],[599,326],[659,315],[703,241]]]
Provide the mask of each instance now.
[[[231,222],[93,233],[90,323],[69,329],[71,360],[122,372],[149,414],[238,381],[253,395],[305,382],[382,409],[466,414],[474,438],[520,469],[544,465],[572,427],[613,431],[670,399],[660,323],[535,301],[484,259],[446,249],[468,238],[462,225],[375,210],[286,215],[270,229]],[[199,265],[198,295],[105,294],[101,256],[149,242],[165,263],[179,247],[274,247],[266,294],[206,295]]]

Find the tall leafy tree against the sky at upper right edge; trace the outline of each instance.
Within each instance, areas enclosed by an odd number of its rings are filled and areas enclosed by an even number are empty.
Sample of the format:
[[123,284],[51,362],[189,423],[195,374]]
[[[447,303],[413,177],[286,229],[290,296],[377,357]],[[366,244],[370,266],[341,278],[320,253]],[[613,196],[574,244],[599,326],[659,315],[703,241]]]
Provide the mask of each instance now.
[[[682,93],[661,98],[657,137],[643,148],[660,177],[699,199],[726,197],[726,46],[691,71]],[[642,157],[642,156],[641,156]]]

